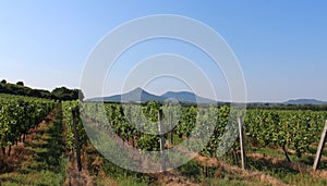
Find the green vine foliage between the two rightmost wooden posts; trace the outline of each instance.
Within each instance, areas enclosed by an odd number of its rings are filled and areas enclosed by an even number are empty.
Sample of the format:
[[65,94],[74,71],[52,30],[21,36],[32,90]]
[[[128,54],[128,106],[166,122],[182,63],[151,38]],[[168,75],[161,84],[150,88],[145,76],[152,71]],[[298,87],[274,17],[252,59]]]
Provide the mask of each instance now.
[[263,146],[292,149],[301,157],[319,141],[326,119],[322,111],[251,110],[246,112],[245,134]]

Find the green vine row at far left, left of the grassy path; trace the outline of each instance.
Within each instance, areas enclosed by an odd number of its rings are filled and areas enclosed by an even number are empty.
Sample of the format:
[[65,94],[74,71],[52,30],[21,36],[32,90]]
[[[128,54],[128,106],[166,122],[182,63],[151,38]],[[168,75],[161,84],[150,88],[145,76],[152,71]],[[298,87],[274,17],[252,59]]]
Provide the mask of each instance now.
[[[0,97],[0,147],[10,156],[11,146],[25,139],[28,131],[36,127],[56,107],[56,101],[21,96]],[[5,149],[8,147],[8,152]]]

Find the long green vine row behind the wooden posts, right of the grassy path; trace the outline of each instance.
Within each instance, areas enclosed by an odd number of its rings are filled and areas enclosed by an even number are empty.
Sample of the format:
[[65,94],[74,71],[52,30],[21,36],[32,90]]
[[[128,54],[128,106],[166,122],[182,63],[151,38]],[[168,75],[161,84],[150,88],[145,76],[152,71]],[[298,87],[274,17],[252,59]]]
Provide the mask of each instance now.
[[[72,108],[78,102],[63,103],[69,121],[72,121]],[[81,104],[83,117],[100,127],[117,134],[123,142],[141,150],[159,151],[158,122],[159,110],[162,110],[164,136],[166,149],[186,141],[185,148],[193,150],[202,147],[201,153],[217,157],[221,147],[233,142],[232,149],[239,149],[238,122],[230,117],[234,114],[230,107],[180,107],[178,104],[160,106],[157,102],[146,104],[100,104],[84,102]],[[78,112],[80,113],[80,112]],[[324,111],[279,111],[247,110],[244,117],[244,133],[247,141],[262,147],[275,147],[284,151],[290,161],[288,150],[301,157],[308,151],[312,144],[318,142],[327,112]],[[72,122],[69,122],[69,146],[74,148]],[[81,117],[77,119],[78,140],[86,145],[87,137]],[[228,132],[229,136],[223,136]],[[209,137],[207,134],[211,134]],[[225,137],[225,138],[223,138]],[[235,142],[234,142],[235,141]],[[225,144],[223,144],[225,142]]]

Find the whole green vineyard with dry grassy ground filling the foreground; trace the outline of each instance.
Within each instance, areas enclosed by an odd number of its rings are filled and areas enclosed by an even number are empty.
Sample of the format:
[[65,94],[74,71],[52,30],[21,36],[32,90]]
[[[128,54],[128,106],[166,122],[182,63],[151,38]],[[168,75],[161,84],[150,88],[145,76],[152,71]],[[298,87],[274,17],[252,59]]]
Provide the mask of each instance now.
[[[241,169],[240,160],[237,119],[241,116],[246,170]],[[36,146],[35,137],[28,136],[53,137],[47,129],[57,129],[53,139],[61,141],[56,142],[61,146],[56,146],[61,160],[57,168],[63,170],[59,185],[327,184],[326,150],[318,171],[312,170],[326,111],[250,109],[238,113],[229,106],[100,104],[1,95],[0,119],[0,163],[4,165],[10,157],[23,159],[15,154],[21,144]],[[189,161],[180,156],[185,151],[198,153]],[[144,161],[147,152],[154,152],[150,161]],[[179,156],[171,156],[174,152]],[[106,160],[108,156],[116,162]],[[177,163],[182,164],[172,170]],[[122,169],[131,164],[132,171]],[[4,165],[0,166],[0,185],[11,185],[8,179],[20,165],[7,170]],[[148,173],[137,173],[137,169]],[[152,173],[158,169],[165,173]],[[26,182],[16,185],[41,185]]]

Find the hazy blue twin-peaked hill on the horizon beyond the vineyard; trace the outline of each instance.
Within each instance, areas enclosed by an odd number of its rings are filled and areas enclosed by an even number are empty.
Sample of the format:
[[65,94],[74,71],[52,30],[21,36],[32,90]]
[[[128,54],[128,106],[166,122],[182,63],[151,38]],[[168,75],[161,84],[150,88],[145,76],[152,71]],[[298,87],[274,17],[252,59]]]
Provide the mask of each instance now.
[[142,88],[135,88],[123,95],[114,95],[110,97],[98,97],[87,99],[86,101],[108,101],[108,102],[147,102],[147,101],[165,101],[167,99],[174,99],[184,103],[215,103],[216,101],[207,98],[196,96],[189,91],[168,91],[161,96],[153,95]]

